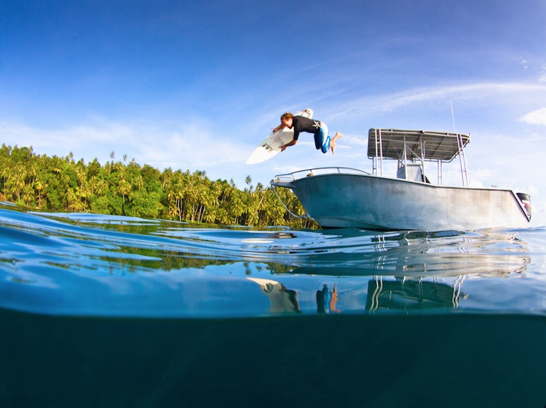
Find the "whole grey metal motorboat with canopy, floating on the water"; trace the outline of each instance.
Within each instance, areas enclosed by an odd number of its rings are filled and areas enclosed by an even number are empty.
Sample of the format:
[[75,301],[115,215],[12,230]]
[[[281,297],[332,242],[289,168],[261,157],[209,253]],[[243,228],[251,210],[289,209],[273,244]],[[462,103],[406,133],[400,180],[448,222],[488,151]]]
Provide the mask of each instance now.
[[[312,168],[277,175],[273,188],[288,188],[322,228],[376,231],[470,231],[524,228],[531,220],[529,194],[468,185],[462,133],[371,128],[372,172]],[[443,167],[458,159],[462,185],[443,185]],[[390,160],[390,161],[389,161]],[[397,161],[396,177],[383,167]],[[388,161],[388,162],[387,162]],[[431,183],[436,173],[435,183]]]

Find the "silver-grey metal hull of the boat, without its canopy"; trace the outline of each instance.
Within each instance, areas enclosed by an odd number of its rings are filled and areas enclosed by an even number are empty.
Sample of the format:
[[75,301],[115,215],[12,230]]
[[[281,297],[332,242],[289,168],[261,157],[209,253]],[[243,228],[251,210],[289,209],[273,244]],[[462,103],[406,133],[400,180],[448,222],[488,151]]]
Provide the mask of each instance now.
[[512,190],[343,173],[271,183],[293,190],[323,228],[467,231],[527,227],[530,220]]

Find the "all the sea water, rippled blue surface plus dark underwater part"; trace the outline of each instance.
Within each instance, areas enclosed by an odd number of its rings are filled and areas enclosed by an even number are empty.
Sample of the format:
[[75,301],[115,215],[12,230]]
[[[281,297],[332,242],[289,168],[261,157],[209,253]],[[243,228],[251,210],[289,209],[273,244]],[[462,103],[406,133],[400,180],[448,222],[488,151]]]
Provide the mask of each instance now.
[[0,205],[1,407],[546,406],[546,229]]

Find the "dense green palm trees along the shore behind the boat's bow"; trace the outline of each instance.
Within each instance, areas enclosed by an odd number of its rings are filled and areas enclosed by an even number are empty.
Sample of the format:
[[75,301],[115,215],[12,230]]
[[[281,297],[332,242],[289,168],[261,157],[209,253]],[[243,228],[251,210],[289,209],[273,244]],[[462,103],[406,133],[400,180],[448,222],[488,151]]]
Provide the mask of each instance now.
[[[213,225],[319,228],[308,218],[295,218],[271,188],[258,183],[240,190],[233,179],[211,181],[206,172],[162,172],[135,159],[98,159],[84,163],[67,157],[36,155],[30,148],[0,148],[0,199],[32,209],[159,218]],[[305,209],[287,189],[276,190],[290,212]]]

